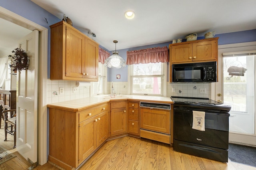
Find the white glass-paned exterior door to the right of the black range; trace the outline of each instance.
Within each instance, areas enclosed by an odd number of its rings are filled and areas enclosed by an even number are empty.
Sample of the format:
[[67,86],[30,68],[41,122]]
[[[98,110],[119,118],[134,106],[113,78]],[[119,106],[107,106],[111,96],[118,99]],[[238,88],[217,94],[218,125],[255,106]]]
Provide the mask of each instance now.
[[254,134],[256,55],[223,56],[223,99],[231,105],[229,130]]

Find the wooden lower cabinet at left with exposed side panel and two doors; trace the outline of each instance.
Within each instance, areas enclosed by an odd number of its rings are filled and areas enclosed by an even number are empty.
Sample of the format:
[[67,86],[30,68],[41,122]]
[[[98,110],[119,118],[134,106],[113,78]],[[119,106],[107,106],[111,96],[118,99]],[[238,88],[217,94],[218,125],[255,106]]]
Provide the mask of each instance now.
[[49,108],[48,160],[77,168],[108,138],[109,122],[108,103],[82,111]]

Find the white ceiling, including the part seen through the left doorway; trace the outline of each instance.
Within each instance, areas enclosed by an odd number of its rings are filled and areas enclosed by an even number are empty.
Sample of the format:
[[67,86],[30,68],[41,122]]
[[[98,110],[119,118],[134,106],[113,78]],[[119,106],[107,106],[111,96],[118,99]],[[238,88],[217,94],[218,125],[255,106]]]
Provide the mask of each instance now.
[[[210,31],[222,34],[256,29],[256,0],[31,1],[61,20],[66,14],[75,28],[86,35],[91,30],[96,34],[94,40],[110,51],[115,48],[113,40],[118,40],[117,49],[126,49],[185,39],[192,33],[200,37]],[[135,12],[134,19],[124,17],[127,10]],[[0,19],[0,57],[3,44],[10,47],[9,40],[14,42],[22,35],[19,26],[3,22]]]

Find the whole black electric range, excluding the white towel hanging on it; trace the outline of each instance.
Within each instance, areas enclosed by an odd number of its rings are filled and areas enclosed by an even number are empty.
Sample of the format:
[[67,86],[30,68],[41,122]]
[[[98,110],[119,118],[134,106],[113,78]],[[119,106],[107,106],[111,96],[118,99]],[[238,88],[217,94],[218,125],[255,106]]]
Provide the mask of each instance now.
[[[178,152],[228,162],[230,106],[198,97],[172,96],[174,101],[174,143]],[[194,111],[204,112],[204,130],[195,130]]]

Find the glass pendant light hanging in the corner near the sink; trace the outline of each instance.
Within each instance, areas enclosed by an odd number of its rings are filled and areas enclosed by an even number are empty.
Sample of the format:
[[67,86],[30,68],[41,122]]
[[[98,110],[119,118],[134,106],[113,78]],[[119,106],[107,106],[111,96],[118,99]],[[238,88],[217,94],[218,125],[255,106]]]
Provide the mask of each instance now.
[[[115,43],[115,45],[116,43],[118,43],[118,41],[116,40],[114,40],[113,42]],[[112,53],[113,55],[105,59],[104,65],[109,68],[116,68],[116,69],[124,68],[125,61],[122,57],[118,55],[119,52],[116,51],[116,47],[115,47],[115,51],[112,51]]]

